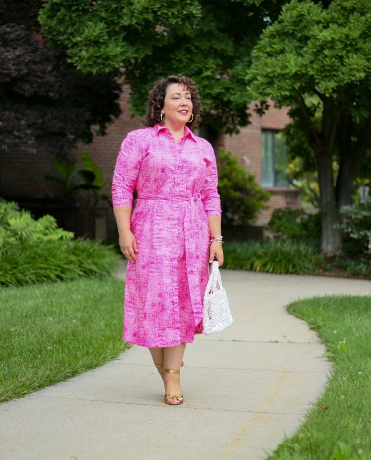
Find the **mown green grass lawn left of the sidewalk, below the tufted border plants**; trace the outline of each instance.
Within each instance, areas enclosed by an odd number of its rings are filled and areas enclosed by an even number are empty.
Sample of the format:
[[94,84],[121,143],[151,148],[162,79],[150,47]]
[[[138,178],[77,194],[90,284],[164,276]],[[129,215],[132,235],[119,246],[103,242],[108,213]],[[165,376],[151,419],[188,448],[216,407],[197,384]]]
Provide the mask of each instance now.
[[116,357],[123,297],[113,277],[0,288],[0,401]]

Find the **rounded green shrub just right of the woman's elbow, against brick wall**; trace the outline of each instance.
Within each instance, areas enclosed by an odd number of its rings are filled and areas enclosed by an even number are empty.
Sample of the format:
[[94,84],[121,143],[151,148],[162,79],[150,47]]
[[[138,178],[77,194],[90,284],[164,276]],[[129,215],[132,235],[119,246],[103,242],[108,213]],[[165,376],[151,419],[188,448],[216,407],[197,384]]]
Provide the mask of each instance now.
[[231,152],[220,149],[217,166],[222,226],[251,225],[270,194],[262,190],[254,175],[240,166]]

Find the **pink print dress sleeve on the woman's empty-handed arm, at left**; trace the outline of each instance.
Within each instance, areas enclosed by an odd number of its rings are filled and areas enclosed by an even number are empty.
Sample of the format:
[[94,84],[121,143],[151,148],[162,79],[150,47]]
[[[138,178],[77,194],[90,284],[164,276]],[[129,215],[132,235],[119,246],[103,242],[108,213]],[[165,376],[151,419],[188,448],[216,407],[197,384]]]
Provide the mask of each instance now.
[[133,192],[143,159],[143,131],[135,130],[128,133],[121,144],[112,179],[114,207],[132,206]]

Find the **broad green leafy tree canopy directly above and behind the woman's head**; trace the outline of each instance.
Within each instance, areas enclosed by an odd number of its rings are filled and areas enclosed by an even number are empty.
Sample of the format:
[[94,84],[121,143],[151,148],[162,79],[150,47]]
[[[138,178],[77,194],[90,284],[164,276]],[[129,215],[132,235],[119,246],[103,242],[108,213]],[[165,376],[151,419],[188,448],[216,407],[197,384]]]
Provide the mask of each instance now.
[[193,78],[202,95],[202,123],[237,132],[248,123],[245,90],[251,51],[285,2],[48,1],[44,34],[84,72],[115,71],[142,115],[151,84],[171,74]]

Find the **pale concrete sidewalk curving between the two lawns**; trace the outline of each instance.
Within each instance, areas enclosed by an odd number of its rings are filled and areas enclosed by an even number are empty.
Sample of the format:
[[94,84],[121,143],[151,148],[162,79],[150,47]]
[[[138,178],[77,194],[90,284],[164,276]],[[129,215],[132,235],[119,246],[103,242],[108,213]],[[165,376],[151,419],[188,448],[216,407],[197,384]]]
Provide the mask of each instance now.
[[[163,401],[147,349],[0,405],[0,459],[263,459],[323,392],[330,364],[284,306],[371,295],[371,282],[222,270],[235,322],[185,350],[185,402]],[[124,276],[124,272],[121,272]]]

